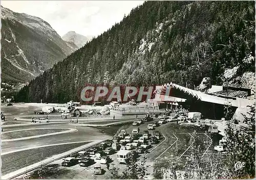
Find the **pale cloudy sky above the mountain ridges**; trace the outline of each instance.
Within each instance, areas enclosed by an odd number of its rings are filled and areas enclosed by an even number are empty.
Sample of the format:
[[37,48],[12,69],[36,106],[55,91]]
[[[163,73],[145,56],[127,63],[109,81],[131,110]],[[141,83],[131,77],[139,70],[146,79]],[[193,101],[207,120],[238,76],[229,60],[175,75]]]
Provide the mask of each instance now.
[[40,17],[63,36],[75,31],[84,36],[100,35],[124,14],[142,5],[144,1],[1,1],[1,5],[14,12]]

